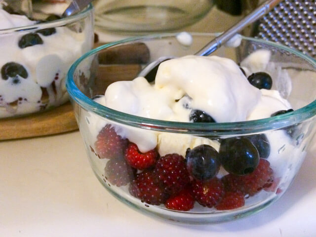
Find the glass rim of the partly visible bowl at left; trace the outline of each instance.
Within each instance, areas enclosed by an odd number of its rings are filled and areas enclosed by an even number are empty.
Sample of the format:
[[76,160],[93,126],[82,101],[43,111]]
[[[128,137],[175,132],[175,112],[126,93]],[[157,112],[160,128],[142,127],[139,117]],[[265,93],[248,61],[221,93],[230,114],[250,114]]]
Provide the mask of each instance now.
[[61,19],[54,20],[54,21],[37,23],[34,25],[0,29],[0,35],[20,33],[20,32],[21,33],[33,32],[33,31],[37,31],[37,30],[41,30],[41,29],[65,26],[65,25],[77,22],[78,20],[88,16],[90,14],[90,11],[92,11],[92,10],[94,10],[93,5],[92,5],[92,3],[89,3],[89,5],[87,7],[85,7],[82,11],[80,11],[74,15],[67,16],[65,18],[61,18]]

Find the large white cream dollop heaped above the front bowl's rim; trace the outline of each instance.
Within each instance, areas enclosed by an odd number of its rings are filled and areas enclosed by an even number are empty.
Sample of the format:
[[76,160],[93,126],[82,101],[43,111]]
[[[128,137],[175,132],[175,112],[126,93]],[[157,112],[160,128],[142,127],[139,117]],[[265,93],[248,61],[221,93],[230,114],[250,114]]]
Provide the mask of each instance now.
[[195,109],[216,122],[234,122],[247,120],[261,97],[233,60],[189,55],[161,63],[154,85],[143,77],[111,84],[105,105],[136,116],[182,122],[189,122]]

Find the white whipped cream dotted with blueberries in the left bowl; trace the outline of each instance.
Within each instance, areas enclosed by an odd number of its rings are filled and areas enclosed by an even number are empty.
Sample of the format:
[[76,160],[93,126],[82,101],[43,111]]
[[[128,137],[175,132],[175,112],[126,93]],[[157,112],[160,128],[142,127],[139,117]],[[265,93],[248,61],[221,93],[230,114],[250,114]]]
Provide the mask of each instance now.
[[[9,14],[0,8],[0,29],[29,26],[36,21],[26,16]],[[71,64],[92,48],[91,26],[82,32],[56,27],[51,35],[37,34],[41,44],[19,47],[20,39],[30,32],[0,33],[0,69],[17,63],[27,77],[0,76],[0,118],[24,115],[61,105],[68,100],[65,77]],[[87,37],[89,35],[89,37]]]

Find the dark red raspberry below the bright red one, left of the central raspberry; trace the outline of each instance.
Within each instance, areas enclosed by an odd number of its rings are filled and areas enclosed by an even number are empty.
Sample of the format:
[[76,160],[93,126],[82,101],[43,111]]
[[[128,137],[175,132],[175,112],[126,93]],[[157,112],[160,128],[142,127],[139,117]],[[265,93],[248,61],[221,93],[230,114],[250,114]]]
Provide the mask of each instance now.
[[152,170],[146,170],[136,175],[136,179],[129,186],[129,193],[149,204],[159,205],[164,203],[168,195],[157,182]]

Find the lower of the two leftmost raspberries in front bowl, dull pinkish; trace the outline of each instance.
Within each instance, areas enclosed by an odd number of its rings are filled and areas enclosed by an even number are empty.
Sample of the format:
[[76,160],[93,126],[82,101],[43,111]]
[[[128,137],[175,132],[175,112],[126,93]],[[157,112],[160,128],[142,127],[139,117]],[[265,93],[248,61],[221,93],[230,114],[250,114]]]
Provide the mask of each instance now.
[[122,158],[110,159],[104,171],[109,182],[118,187],[131,182],[136,174],[136,169],[130,167]]

